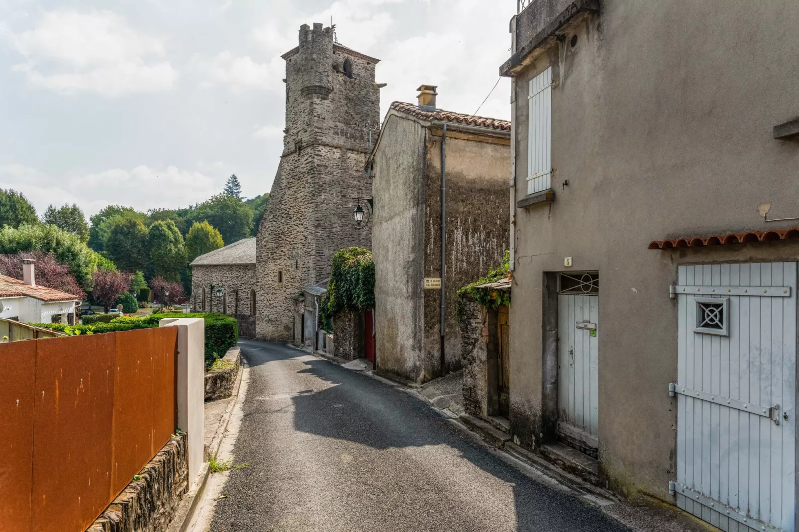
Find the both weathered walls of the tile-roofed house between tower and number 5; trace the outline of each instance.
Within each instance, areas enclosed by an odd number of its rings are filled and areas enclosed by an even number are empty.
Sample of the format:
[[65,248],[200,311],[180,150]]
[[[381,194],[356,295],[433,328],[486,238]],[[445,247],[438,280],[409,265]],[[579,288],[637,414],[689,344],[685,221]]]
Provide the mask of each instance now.
[[[457,291],[498,266],[507,248],[511,125],[392,103],[374,150],[376,367],[423,383],[461,367]],[[444,367],[441,147],[446,181]]]

